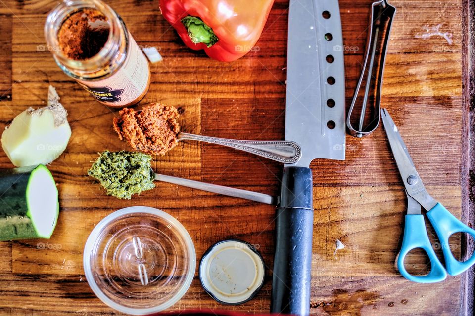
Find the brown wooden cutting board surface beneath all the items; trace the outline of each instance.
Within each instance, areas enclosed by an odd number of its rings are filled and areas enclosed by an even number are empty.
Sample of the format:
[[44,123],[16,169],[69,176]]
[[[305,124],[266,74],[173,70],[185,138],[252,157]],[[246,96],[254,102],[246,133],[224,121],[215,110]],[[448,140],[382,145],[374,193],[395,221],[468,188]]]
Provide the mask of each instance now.
[[[239,238],[254,244],[269,268],[258,296],[239,306],[216,303],[197,276],[170,310],[267,312],[274,252],[274,212],[261,205],[175,185],[118,200],[87,176],[97,152],[128,149],[112,130],[117,111],[95,102],[64,75],[46,51],[43,26],[52,0],[0,0],[0,129],[29,106],[46,103],[54,85],[69,112],[72,137],[49,167],[61,211],[49,240],[0,243],[1,315],[116,314],[91,291],[82,265],[91,230],[106,215],[132,205],[162,209],[190,232],[198,259],[213,243]],[[186,132],[228,138],[284,138],[288,1],[277,0],[256,49],[232,63],[187,49],[161,16],[158,1],[112,0],[137,42],[158,47],[152,83],[141,105],[180,109]],[[365,49],[369,0],[341,0],[346,96],[351,99]],[[406,141],[427,190],[472,225],[469,209],[468,0],[391,0],[393,24],[382,104]],[[442,36],[420,38],[439,25]],[[450,34],[449,34],[450,33]],[[12,167],[0,154],[0,167]],[[471,312],[473,272],[424,285],[394,267],[406,199],[382,128],[365,139],[347,136],[346,160],[315,160],[311,312],[314,315],[463,315]],[[181,142],[154,162],[157,172],[278,194],[281,165],[209,144]],[[429,236],[434,244],[433,230]],[[335,240],[345,245],[335,253]],[[454,246],[457,255],[466,245]],[[464,240],[465,241],[465,240]],[[419,254],[414,271],[426,269]]]

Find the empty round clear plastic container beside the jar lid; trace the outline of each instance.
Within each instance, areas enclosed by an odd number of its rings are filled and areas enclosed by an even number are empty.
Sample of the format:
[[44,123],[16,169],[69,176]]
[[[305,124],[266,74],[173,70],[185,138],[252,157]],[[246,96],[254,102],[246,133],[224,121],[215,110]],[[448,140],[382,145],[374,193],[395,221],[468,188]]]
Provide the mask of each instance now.
[[133,315],[175,304],[196,269],[187,230],[173,216],[145,206],[124,208],[100,221],[89,235],[83,260],[95,295]]

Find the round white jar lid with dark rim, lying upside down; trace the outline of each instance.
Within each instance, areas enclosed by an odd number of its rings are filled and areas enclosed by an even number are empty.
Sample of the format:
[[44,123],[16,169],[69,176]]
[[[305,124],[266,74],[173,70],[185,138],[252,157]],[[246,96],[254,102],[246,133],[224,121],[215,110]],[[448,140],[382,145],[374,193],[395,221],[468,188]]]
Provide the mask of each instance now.
[[252,299],[264,283],[261,255],[247,242],[228,239],[211,246],[199,264],[204,290],[216,301],[237,305]]

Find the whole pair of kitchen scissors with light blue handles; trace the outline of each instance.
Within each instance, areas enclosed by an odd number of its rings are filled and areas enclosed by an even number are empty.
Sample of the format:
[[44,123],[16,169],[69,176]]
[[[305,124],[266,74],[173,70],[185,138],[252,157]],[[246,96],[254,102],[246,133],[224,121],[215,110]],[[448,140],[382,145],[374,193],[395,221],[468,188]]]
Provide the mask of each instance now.
[[[475,253],[465,262],[455,259],[450,250],[449,237],[454,233],[468,233],[475,238],[475,230],[468,227],[452,215],[447,209],[431,197],[424,187],[416,167],[409,156],[406,145],[386,109],[381,109],[382,122],[387,139],[401,174],[407,195],[407,215],[405,216],[404,237],[397,258],[397,268],[406,279],[418,283],[434,283],[444,280],[447,273],[456,276],[469,269],[475,263]],[[440,240],[445,267],[438,260],[427,236],[424,216],[421,208],[427,210],[427,218]],[[422,248],[430,260],[430,272],[426,276],[410,275],[404,267],[404,258],[413,249]]]

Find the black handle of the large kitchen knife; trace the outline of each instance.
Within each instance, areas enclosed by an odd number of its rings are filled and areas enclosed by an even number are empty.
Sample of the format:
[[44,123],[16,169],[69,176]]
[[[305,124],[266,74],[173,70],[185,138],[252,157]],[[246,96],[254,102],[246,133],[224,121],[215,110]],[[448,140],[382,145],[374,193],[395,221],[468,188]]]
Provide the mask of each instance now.
[[276,214],[271,313],[310,313],[313,241],[312,170],[285,167]]

